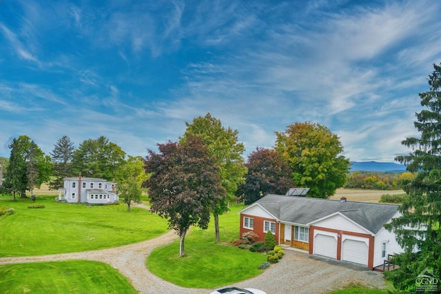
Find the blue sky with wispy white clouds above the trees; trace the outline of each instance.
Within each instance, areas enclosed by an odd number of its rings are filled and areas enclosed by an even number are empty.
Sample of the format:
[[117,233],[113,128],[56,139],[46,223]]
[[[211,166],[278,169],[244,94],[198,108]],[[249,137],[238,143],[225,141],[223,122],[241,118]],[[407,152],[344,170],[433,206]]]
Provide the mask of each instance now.
[[0,1],[0,156],[28,135],[103,135],[129,155],[210,112],[246,154],[309,121],[351,161],[418,136],[441,1]]

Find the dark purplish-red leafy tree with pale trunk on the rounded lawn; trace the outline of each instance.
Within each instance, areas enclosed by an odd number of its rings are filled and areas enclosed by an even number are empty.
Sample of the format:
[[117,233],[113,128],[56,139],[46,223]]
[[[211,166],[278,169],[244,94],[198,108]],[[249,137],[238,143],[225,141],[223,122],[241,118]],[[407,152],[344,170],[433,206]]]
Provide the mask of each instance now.
[[159,153],[149,150],[145,171],[150,210],[168,220],[180,237],[179,256],[185,256],[185,234],[190,226],[207,228],[210,206],[225,197],[218,166],[203,140],[187,137],[182,143],[158,144]]

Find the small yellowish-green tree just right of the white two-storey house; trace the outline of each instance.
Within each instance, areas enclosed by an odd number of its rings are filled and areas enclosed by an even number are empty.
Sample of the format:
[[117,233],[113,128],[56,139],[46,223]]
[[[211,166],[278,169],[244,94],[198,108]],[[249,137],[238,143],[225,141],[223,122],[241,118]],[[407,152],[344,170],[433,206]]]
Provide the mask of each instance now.
[[144,170],[143,157],[129,156],[127,162],[120,166],[116,172],[116,192],[120,199],[127,204],[127,211],[130,211],[132,203],[140,203],[143,190],[143,182],[147,179]]

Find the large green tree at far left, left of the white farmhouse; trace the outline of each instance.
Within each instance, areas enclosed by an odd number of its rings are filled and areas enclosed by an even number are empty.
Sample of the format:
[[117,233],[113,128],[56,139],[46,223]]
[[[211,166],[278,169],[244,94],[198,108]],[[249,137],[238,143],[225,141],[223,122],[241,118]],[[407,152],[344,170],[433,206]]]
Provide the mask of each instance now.
[[48,182],[52,173],[50,157],[35,144],[30,137],[21,135],[9,144],[11,149],[10,164],[6,171],[5,188],[26,197],[26,190],[39,188]]

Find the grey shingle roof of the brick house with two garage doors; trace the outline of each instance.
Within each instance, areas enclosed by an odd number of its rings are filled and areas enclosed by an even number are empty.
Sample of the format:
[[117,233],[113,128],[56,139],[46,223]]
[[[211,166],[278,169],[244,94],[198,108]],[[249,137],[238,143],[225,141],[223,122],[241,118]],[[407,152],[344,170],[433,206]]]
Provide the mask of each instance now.
[[334,213],[341,213],[372,233],[378,233],[383,225],[398,212],[398,205],[393,204],[341,202],[340,200],[274,194],[262,197],[251,206],[255,204],[265,208],[280,222],[294,224],[307,225]]

